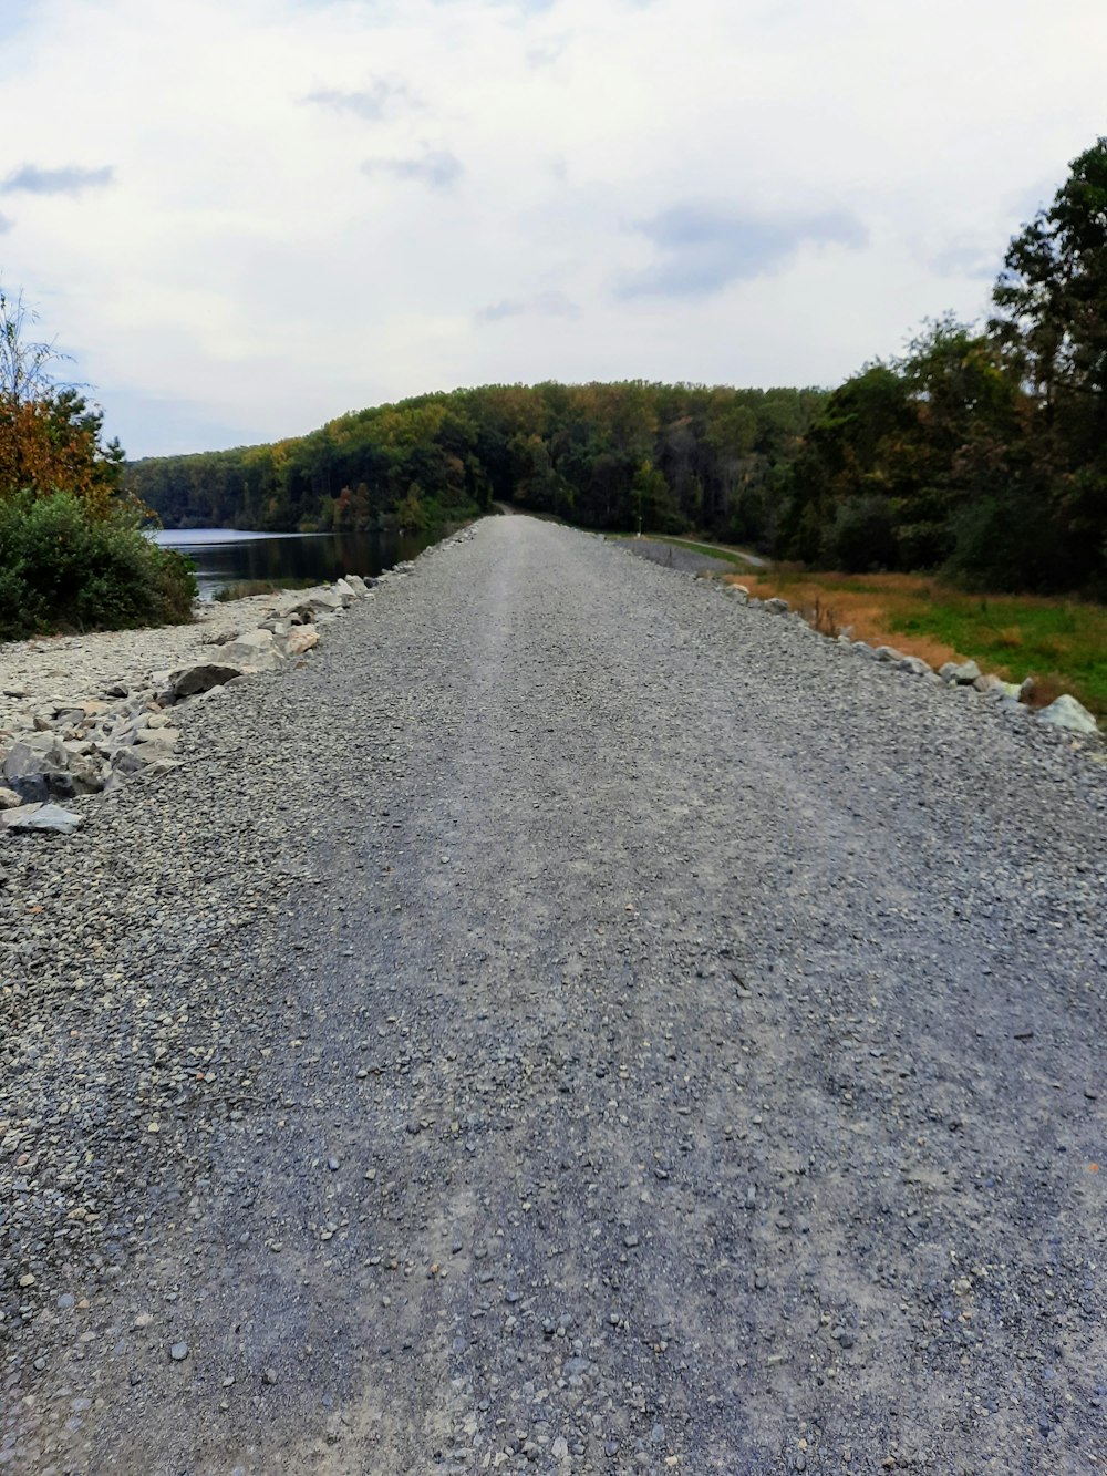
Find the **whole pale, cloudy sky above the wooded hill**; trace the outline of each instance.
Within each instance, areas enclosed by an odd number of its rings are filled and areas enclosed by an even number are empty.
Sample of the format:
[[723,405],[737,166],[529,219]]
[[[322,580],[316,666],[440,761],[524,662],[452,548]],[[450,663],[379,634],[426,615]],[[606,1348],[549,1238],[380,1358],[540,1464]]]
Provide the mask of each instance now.
[[0,286],[131,456],[987,311],[1103,0],[0,0]]

